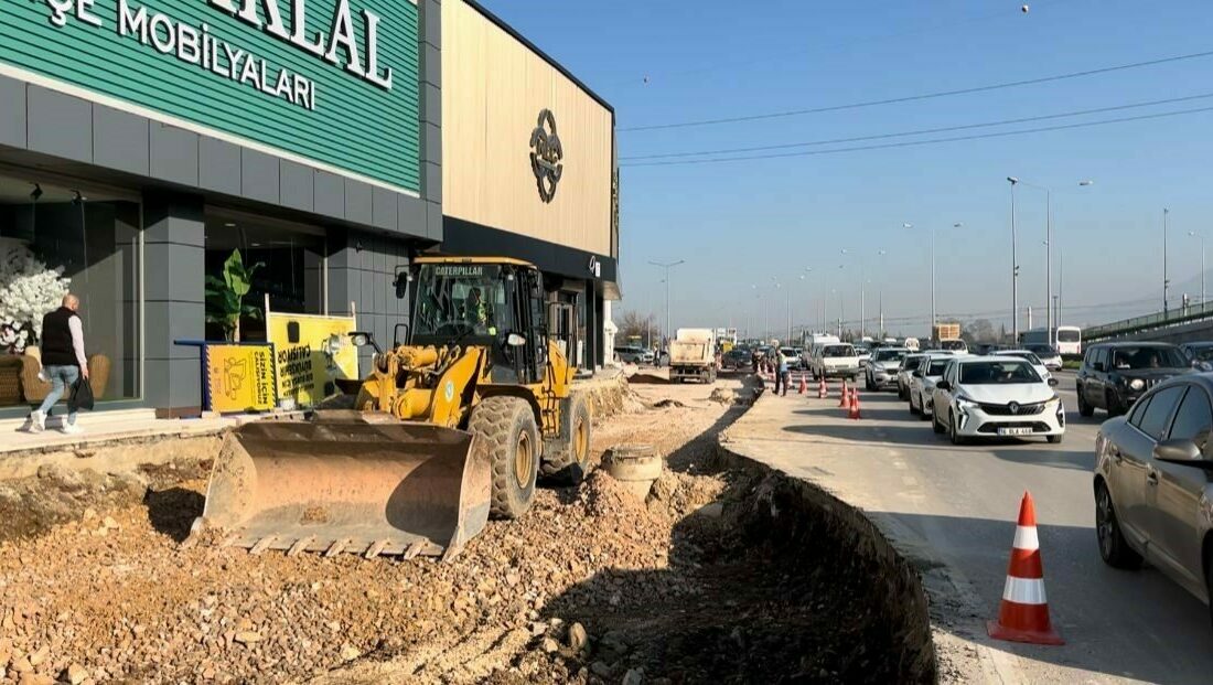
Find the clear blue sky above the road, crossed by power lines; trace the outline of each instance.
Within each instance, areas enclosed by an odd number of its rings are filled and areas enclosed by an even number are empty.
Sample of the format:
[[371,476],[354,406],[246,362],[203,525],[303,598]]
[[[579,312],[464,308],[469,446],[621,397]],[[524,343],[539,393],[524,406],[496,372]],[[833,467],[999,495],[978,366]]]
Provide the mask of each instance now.
[[[1200,240],[1188,232],[1205,232],[1213,241],[1213,112],[723,164],[639,166],[671,158],[627,158],[881,136],[1197,95],[1211,97],[774,152],[1213,108],[1211,55],[877,107],[628,130],[900,98],[1208,52],[1213,51],[1209,0],[1041,0],[1026,15],[1021,2],[1004,0],[491,0],[486,6],[615,107],[625,297],[619,309],[660,318],[661,272],[648,262],[685,259],[671,281],[674,327],[761,326],[769,303],[770,327],[781,330],[786,291],[776,290],[774,279],[792,286],[797,326],[816,324],[824,301],[828,316],[837,318],[839,297],[853,321],[860,310],[862,263],[862,279],[871,280],[870,326],[883,293],[887,327],[923,335],[930,312],[930,228],[936,227],[940,316],[1009,321],[1007,176],[1054,189],[1054,269],[1064,268],[1063,322],[1104,322],[1161,309],[1163,207],[1171,210],[1172,307],[1181,292],[1200,297]],[[762,154],[771,153],[750,153]],[[1083,179],[1094,183],[1080,187]],[[1015,216],[1020,306],[1031,304],[1035,325],[1043,325],[1044,193],[1020,185]],[[912,229],[904,228],[907,222]],[[963,226],[952,228],[955,223]],[[887,255],[881,257],[881,250]],[[813,270],[807,273],[807,267]]]

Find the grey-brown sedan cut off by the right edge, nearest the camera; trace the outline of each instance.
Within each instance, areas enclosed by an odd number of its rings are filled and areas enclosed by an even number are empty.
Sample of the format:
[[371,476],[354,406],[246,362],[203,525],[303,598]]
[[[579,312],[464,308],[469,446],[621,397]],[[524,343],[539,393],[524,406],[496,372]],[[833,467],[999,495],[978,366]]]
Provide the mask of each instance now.
[[1213,593],[1213,375],[1172,378],[1095,436],[1095,533],[1117,569],[1143,558],[1206,604]]

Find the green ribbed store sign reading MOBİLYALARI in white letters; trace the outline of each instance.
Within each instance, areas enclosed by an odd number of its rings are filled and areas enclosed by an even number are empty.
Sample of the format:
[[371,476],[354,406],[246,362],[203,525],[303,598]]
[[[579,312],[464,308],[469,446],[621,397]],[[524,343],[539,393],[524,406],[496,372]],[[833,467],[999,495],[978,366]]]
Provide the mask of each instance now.
[[0,63],[420,192],[410,0],[0,4]]

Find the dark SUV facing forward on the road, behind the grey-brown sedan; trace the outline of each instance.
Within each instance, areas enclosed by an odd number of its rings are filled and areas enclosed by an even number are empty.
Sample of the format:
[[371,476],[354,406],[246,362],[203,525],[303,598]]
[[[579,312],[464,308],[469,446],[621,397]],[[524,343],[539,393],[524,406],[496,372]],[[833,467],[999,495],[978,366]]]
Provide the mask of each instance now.
[[1078,413],[1092,416],[1099,407],[1120,416],[1154,386],[1191,372],[1188,358],[1171,343],[1089,346],[1078,369]]

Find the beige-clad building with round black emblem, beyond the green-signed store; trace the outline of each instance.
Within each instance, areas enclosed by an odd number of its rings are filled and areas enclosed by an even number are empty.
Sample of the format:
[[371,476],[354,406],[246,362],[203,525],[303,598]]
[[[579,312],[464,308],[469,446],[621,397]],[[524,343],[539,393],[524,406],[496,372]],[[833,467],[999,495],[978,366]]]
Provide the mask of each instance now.
[[552,316],[570,358],[600,366],[620,298],[615,110],[477,2],[443,2],[442,24],[439,249],[535,263],[571,312]]

